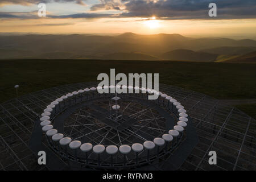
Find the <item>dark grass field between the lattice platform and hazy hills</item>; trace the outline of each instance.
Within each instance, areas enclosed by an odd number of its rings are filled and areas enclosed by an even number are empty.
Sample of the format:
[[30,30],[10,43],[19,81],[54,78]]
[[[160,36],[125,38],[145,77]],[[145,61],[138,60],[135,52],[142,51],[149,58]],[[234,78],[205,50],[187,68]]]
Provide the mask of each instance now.
[[159,82],[218,99],[256,98],[256,64],[121,60],[1,60],[0,103],[19,95],[75,82],[99,73],[159,73]]

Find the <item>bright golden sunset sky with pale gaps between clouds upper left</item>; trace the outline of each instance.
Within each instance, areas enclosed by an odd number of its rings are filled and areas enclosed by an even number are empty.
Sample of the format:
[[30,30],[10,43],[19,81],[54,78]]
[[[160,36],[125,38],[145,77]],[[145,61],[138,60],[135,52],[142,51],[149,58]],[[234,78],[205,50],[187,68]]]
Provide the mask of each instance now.
[[[159,0],[162,1],[162,0]],[[156,1],[154,3],[158,3]],[[87,1],[83,1],[87,2]],[[36,16],[36,5],[6,5],[0,3],[0,32],[38,32],[38,33],[88,33],[88,34],[121,34],[134,32],[136,34],[191,34],[191,35],[255,35],[256,18],[234,19],[170,19],[151,15],[148,17],[118,17],[118,18],[49,18],[48,15],[69,15],[79,13],[106,14],[111,11],[113,15],[121,14],[119,10],[96,10],[93,5],[99,5],[93,0],[90,5],[77,5],[76,3],[52,3],[47,9],[46,17],[20,18],[23,15]],[[115,0],[113,0],[115,2]],[[119,1],[117,1],[119,3]],[[117,3],[115,2],[115,3]],[[117,3],[117,4],[118,4]],[[68,5],[67,5],[68,4]],[[118,4],[119,5],[119,4]],[[71,6],[70,9],[66,9]],[[106,6],[106,5],[104,5]],[[123,5],[125,6],[125,5]],[[123,8],[119,5],[119,7]],[[85,11],[83,11],[85,10]],[[23,12],[20,15],[20,12]],[[126,13],[126,10],[124,10]],[[17,18],[3,16],[7,13],[17,15]],[[7,17],[7,18],[6,18]],[[32,17],[32,16],[31,16]],[[193,17],[193,16],[192,16]],[[189,18],[189,16],[188,16]],[[255,35],[256,37],[256,35]]]

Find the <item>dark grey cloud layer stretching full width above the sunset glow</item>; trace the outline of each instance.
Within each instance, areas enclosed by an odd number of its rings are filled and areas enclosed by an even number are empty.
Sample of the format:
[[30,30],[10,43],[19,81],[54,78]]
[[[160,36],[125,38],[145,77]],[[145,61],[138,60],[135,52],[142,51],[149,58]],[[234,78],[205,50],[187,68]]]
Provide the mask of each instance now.
[[[40,0],[3,0],[11,3],[39,3]],[[43,2],[76,2],[83,4],[82,0],[44,0]],[[40,1],[42,2],[42,1]],[[217,17],[208,16],[208,5],[217,4]],[[70,15],[48,15],[47,18],[149,18],[158,19],[241,19],[256,18],[255,0],[100,0],[100,3],[90,7],[93,13],[80,13]],[[95,11],[104,10],[104,14]],[[108,13],[110,10],[111,13]],[[112,10],[119,10],[113,14]],[[0,14],[0,18],[32,18],[28,14]],[[38,17],[36,17],[38,18]]]

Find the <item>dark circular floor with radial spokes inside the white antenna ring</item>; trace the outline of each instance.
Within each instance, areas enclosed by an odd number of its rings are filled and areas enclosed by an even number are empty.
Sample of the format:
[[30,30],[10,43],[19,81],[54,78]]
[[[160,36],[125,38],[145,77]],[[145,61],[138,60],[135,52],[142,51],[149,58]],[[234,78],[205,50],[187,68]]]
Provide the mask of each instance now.
[[[101,139],[102,144],[121,146],[124,140],[125,144],[131,146],[133,143],[151,140],[152,137],[161,137],[167,133],[168,123],[174,120],[161,107],[131,98],[122,98],[117,113],[117,117],[119,113],[122,113],[122,117],[114,119],[115,111],[110,114],[109,102],[109,98],[100,98],[84,102],[79,109],[69,109],[72,114],[65,115],[64,125],[59,125],[57,129],[64,131],[67,137],[80,140],[81,143],[96,145]],[[164,112],[164,115],[159,112]],[[57,118],[56,124],[63,121],[58,121]],[[113,138],[113,135],[116,137]],[[128,136],[129,139],[125,140]]]

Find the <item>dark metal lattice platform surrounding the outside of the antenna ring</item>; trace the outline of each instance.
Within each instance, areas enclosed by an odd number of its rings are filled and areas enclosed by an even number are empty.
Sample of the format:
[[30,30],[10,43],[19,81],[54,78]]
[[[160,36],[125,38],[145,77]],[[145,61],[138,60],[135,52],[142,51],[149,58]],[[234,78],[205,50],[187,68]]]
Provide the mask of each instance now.
[[[49,103],[74,90],[95,86],[95,82],[57,86],[27,94],[0,105],[0,169],[47,170],[39,166],[30,149],[34,122]],[[160,84],[159,90],[179,101],[192,118],[199,143],[179,168],[180,170],[255,170],[255,119],[242,111],[219,104],[204,94]],[[44,140],[43,146],[48,148]],[[217,152],[217,165],[209,165],[208,152]],[[171,157],[171,156],[170,156]],[[177,156],[179,157],[179,156]],[[61,159],[60,159],[61,160]],[[164,158],[164,161],[168,161]],[[168,170],[168,163],[144,169]],[[169,168],[171,169],[171,168]]]

